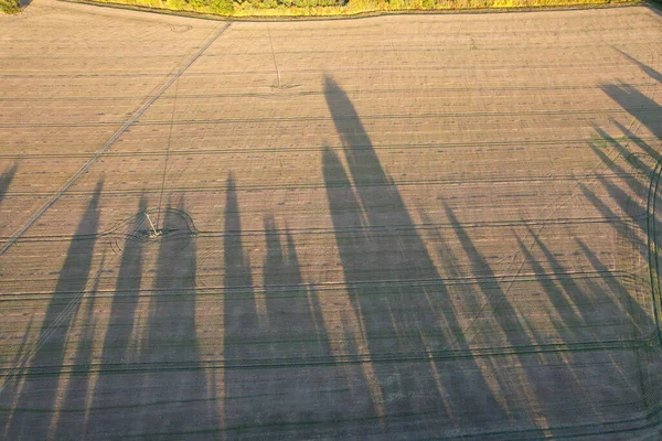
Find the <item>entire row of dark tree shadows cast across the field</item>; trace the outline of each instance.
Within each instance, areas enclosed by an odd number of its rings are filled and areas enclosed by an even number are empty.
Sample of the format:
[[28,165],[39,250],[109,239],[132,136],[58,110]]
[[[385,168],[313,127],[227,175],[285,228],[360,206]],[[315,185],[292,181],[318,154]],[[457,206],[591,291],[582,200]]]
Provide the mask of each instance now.
[[[660,80],[660,74],[641,67]],[[654,101],[624,85],[604,90],[654,136],[662,136],[662,109]],[[650,384],[641,385],[654,381],[651,368],[642,364],[658,359],[658,353],[638,351],[640,364],[636,366],[623,355],[634,349],[600,351],[599,331],[589,327],[600,311],[617,315],[612,319],[637,330],[632,335],[642,341],[655,324],[649,312],[628,297],[622,280],[581,239],[575,243],[599,275],[583,280],[584,286],[565,276],[567,269],[533,228],[527,229],[531,244],[517,237],[519,251],[556,312],[552,320],[555,333],[570,343],[597,344],[586,351],[533,351],[545,346],[548,336],[512,304],[453,209],[441,203],[468,258],[469,271],[478,278],[459,289],[445,280],[466,278],[466,270],[457,266],[460,256],[437,235],[440,265],[448,276],[442,277],[350,98],[331,78],[327,78],[324,92],[348,164],[345,168],[333,150],[322,153],[335,244],[352,306],[341,316],[345,355],[338,356],[334,347],[339,343],[325,327],[324,293],[305,281],[292,234],[271,217],[264,219],[266,318],[260,315],[233,176],[227,179],[224,208],[224,331],[218,342],[223,368],[209,369],[199,347],[193,235],[159,243],[153,287],[158,294],[149,299],[147,318],[138,313],[146,241],[127,238],[107,331],[98,346],[98,275],[90,271],[103,191],[99,182],[49,300],[38,340],[44,344],[35,346],[30,363],[10,377],[1,392],[3,438],[61,440],[146,433],[173,438],[178,433],[212,438],[384,433],[397,438],[408,433],[428,438],[482,433],[479,438],[516,439],[517,430],[534,438],[618,431],[648,423],[637,419],[641,416],[651,421],[656,417],[661,397],[650,391]],[[641,114],[647,106],[656,106],[658,111]],[[630,154],[628,143],[596,130],[619,154],[631,158],[636,172],[642,176],[652,173],[650,163]],[[628,128],[620,130],[641,152],[658,158],[656,150]],[[615,174],[632,174],[609,160],[602,147],[594,143],[591,148]],[[0,203],[17,170],[14,165],[0,178]],[[643,232],[645,207],[627,195],[644,195],[645,180],[626,179],[628,189],[600,175],[597,180],[631,216],[621,220]],[[605,218],[622,218],[587,185],[578,185]],[[146,209],[147,200],[142,198],[137,213]],[[164,229],[175,229],[178,222],[166,212]],[[534,257],[533,247],[543,254],[551,272]],[[605,287],[623,294],[592,295]],[[489,357],[473,354],[471,338],[476,335],[467,335],[460,323],[458,290],[462,303],[484,301],[493,312],[487,321],[491,327],[480,331],[487,343],[522,349]],[[86,302],[72,301],[72,293],[84,291],[88,292]],[[79,332],[73,349],[75,362],[64,366],[74,329]],[[97,359],[95,346],[102,347]]]

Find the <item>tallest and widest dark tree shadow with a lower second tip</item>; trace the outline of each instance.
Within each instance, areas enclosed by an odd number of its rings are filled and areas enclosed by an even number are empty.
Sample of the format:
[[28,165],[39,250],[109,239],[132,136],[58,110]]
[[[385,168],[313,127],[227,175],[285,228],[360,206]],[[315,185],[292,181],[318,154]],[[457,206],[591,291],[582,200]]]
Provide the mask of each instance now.
[[[506,423],[477,362],[435,359],[447,351],[468,352],[453,300],[418,235],[402,196],[386,175],[346,94],[327,78],[327,105],[343,143],[340,158],[325,150],[324,183],[348,292],[380,388],[373,407],[384,418],[410,415],[416,429],[487,430]],[[351,176],[351,180],[350,180]],[[407,363],[407,361],[427,362]],[[416,417],[435,411],[434,418]]]

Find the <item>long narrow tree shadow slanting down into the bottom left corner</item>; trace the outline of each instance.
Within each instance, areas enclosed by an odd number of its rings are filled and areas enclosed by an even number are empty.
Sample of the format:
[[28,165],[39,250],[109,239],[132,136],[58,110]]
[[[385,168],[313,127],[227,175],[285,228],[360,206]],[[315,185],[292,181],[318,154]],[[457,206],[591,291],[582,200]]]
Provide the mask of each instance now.
[[9,417],[7,439],[44,440],[52,428],[58,424],[55,411],[57,395],[66,378],[62,375],[65,364],[68,333],[82,303],[81,293],[87,286],[99,219],[99,198],[103,182],[87,205],[72,237],[70,248],[60,270],[60,278],[49,300],[40,344],[24,369],[25,383],[17,397],[13,412]]

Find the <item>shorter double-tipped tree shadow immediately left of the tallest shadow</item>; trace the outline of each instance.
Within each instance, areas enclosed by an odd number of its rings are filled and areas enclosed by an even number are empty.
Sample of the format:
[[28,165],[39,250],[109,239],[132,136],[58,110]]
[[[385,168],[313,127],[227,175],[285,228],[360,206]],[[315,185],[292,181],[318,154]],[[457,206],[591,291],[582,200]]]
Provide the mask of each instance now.
[[[292,409],[270,410],[269,419],[286,423],[329,418],[327,368],[306,366],[331,356],[327,333],[321,321],[317,291],[305,284],[291,234],[279,230],[271,217],[265,218],[267,252],[264,262],[264,287],[267,310],[265,347],[268,358],[288,359],[299,367],[289,372],[274,391],[286,394]],[[280,375],[273,373],[271,375]],[[296,409],[296,410],[295,410]],[[286,435],[286,438],[289,438]]]

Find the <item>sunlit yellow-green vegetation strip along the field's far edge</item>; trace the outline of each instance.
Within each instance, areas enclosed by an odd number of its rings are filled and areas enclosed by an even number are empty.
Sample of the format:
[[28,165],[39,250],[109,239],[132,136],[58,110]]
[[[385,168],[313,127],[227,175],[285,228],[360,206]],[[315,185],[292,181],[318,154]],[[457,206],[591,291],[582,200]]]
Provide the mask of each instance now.
[[[8,0],[0,0],[8,1]],[[81,0],[85,1],[85,0]],[[333,17],[398,11],[579,7],[642,0],[92,0],[224,17]]]

